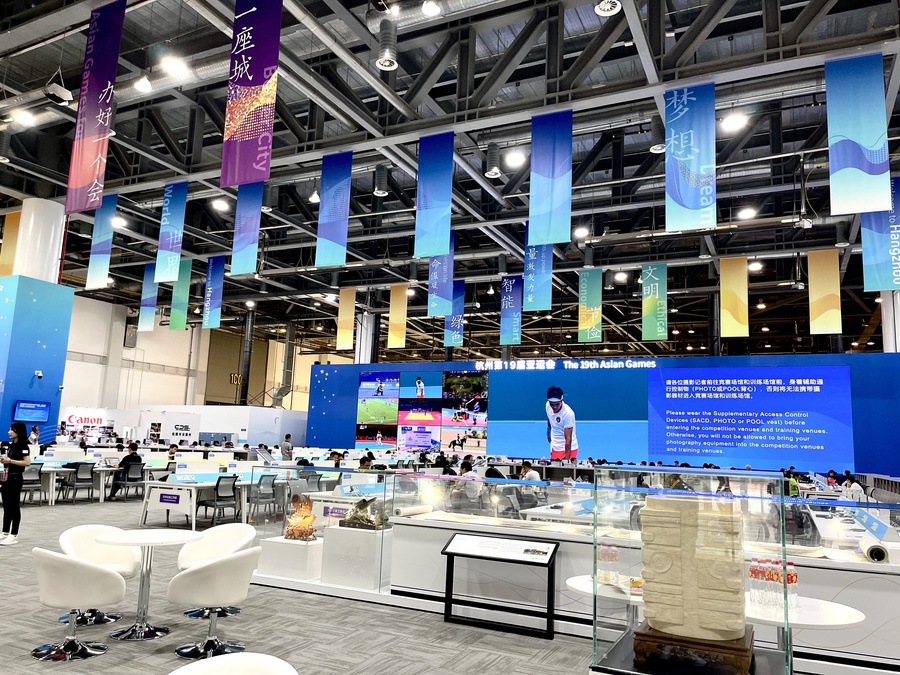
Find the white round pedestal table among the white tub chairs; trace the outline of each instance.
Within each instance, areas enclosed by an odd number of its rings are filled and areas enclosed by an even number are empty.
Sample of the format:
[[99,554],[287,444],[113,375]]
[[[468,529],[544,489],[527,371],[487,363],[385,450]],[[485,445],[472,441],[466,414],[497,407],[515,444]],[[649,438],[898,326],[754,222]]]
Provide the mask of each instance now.
[[163,626],[151,626],[147,622],[150,609],[150,574],[153,563],[154,546],[181,546],[197,541],[202,535],[187,530],[141,529],[109,532],[97,536],[100,544],[113,546],[140,546],[141,548],[141,580],[138,589],[137,616],[134,624],[128,628],[120,628],[109,634],[116,640],[155,640],[169,634]]

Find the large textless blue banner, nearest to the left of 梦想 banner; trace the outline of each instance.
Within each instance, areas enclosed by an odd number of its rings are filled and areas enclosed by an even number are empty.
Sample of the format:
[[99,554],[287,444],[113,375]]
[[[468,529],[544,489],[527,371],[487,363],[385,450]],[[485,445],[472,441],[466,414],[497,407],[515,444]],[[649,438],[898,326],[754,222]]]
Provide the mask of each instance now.
[[528,246],[572,241],[572,111],[531,119]]

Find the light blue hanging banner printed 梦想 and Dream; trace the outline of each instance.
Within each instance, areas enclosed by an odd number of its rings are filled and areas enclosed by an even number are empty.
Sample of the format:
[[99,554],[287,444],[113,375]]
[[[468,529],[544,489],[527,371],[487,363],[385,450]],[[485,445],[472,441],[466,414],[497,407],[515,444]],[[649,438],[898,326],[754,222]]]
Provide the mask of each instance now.
[[716,86],[666,92],[666,231],[716,226]]

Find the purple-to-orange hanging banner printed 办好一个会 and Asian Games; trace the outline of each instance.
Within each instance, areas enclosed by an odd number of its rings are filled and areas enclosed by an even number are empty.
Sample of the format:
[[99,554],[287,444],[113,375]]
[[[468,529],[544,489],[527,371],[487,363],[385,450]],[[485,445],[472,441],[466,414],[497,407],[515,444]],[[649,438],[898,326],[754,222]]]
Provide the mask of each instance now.
[[96,209],[103,200],[124,22],[125,0],[115,0],[91,11],[69,162],[66,213]]

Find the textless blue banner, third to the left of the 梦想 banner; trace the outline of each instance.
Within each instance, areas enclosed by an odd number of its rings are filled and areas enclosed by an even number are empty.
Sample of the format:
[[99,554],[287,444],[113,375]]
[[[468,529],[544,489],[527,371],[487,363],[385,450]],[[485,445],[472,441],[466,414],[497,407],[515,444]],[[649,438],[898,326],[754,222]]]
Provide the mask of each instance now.
[[322,195],[319,201],[316,267],[347,264],[352,170],[352,152],[325,155],[322,158]]

